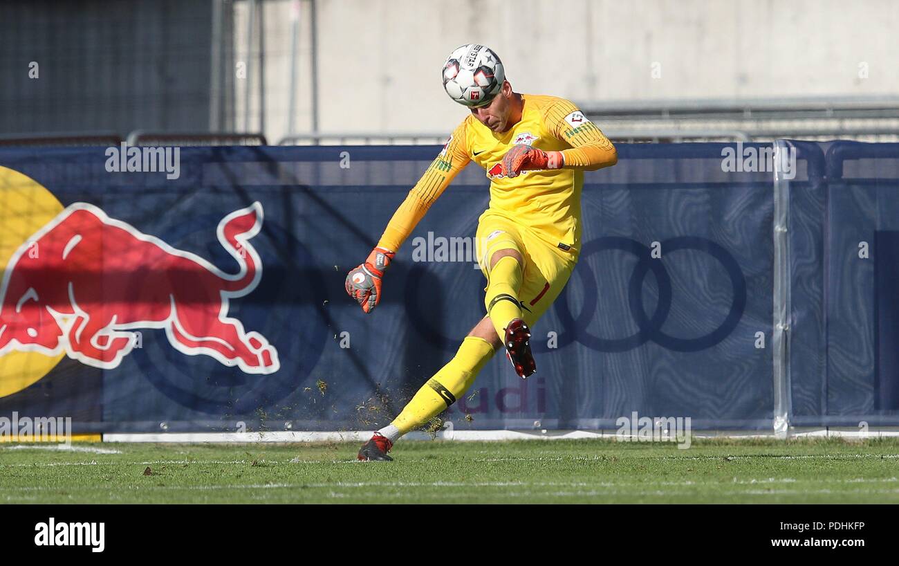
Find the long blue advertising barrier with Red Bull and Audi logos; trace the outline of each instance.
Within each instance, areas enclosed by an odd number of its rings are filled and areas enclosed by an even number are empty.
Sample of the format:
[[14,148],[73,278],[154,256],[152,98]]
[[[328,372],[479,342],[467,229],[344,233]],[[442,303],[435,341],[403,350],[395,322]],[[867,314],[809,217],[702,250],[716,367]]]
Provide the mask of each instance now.
[[[538,373],[495,356],[444,415],[456,435],[899,426],[899,144],[773,148],[621,144],[586,173]],[[375,313],[343,291],[439,146],[135,149],[0,148],[0,417],[125,437],[367,430],[483,316],[475,166]]]

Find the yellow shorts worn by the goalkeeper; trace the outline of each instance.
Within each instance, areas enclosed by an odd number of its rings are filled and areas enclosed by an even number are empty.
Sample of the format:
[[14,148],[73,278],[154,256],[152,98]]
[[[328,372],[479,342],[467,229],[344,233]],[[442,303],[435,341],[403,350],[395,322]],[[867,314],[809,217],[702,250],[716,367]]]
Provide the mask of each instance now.
[[[577,264],[577,257],[549,245],[533,231],[514,220],[489,209],[477,222],[475,238],[477,263],[490,281],[490,257],[501,249],[515,249],[524,258],[521,291],[524,321],[532,327],[568,283]],[[485,286],[484,290],[487,290]]]

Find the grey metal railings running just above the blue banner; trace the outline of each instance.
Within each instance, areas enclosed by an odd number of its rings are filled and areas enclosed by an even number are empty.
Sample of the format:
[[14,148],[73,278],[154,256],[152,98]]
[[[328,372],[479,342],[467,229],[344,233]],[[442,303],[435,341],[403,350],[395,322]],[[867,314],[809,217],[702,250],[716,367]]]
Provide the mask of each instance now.
[[[592,121],[620,143],[772,141],[774,139],[899,141],[899,98],[842,100],[680,101],[668,103],[581,103]],[[292,134],[280,146],[434,145],[448,131],[331,131]],[[0,146],[267,145],[263,131],[177,131],[165,128],[7,134]]]

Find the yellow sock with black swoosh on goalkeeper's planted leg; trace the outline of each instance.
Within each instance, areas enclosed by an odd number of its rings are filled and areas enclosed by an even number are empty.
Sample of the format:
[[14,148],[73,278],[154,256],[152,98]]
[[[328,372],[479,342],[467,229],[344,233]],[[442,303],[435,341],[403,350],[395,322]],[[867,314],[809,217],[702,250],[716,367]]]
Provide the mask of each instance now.
[[415,393],[391,425],[400,434],[421,427],[446,410],[475,382],[477,373],[494,355],[494,346],[484,338],[469,336],[449,363]]

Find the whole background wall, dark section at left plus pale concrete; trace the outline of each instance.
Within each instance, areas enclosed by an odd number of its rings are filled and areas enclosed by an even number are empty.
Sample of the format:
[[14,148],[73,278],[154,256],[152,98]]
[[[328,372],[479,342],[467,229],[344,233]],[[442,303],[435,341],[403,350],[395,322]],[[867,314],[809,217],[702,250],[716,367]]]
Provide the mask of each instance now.
[[[264,96],[247,0],[0,2],[0,133],[262,130],[277,142],[292,12],[293,128],[312,130],[311,2],[264,0]],[[324,132],[449,132],[466,110],[439,73],[467,42],[495,49],[517,90],[577,102],[899,94],[895,0],[316,0],[316,11]]]

